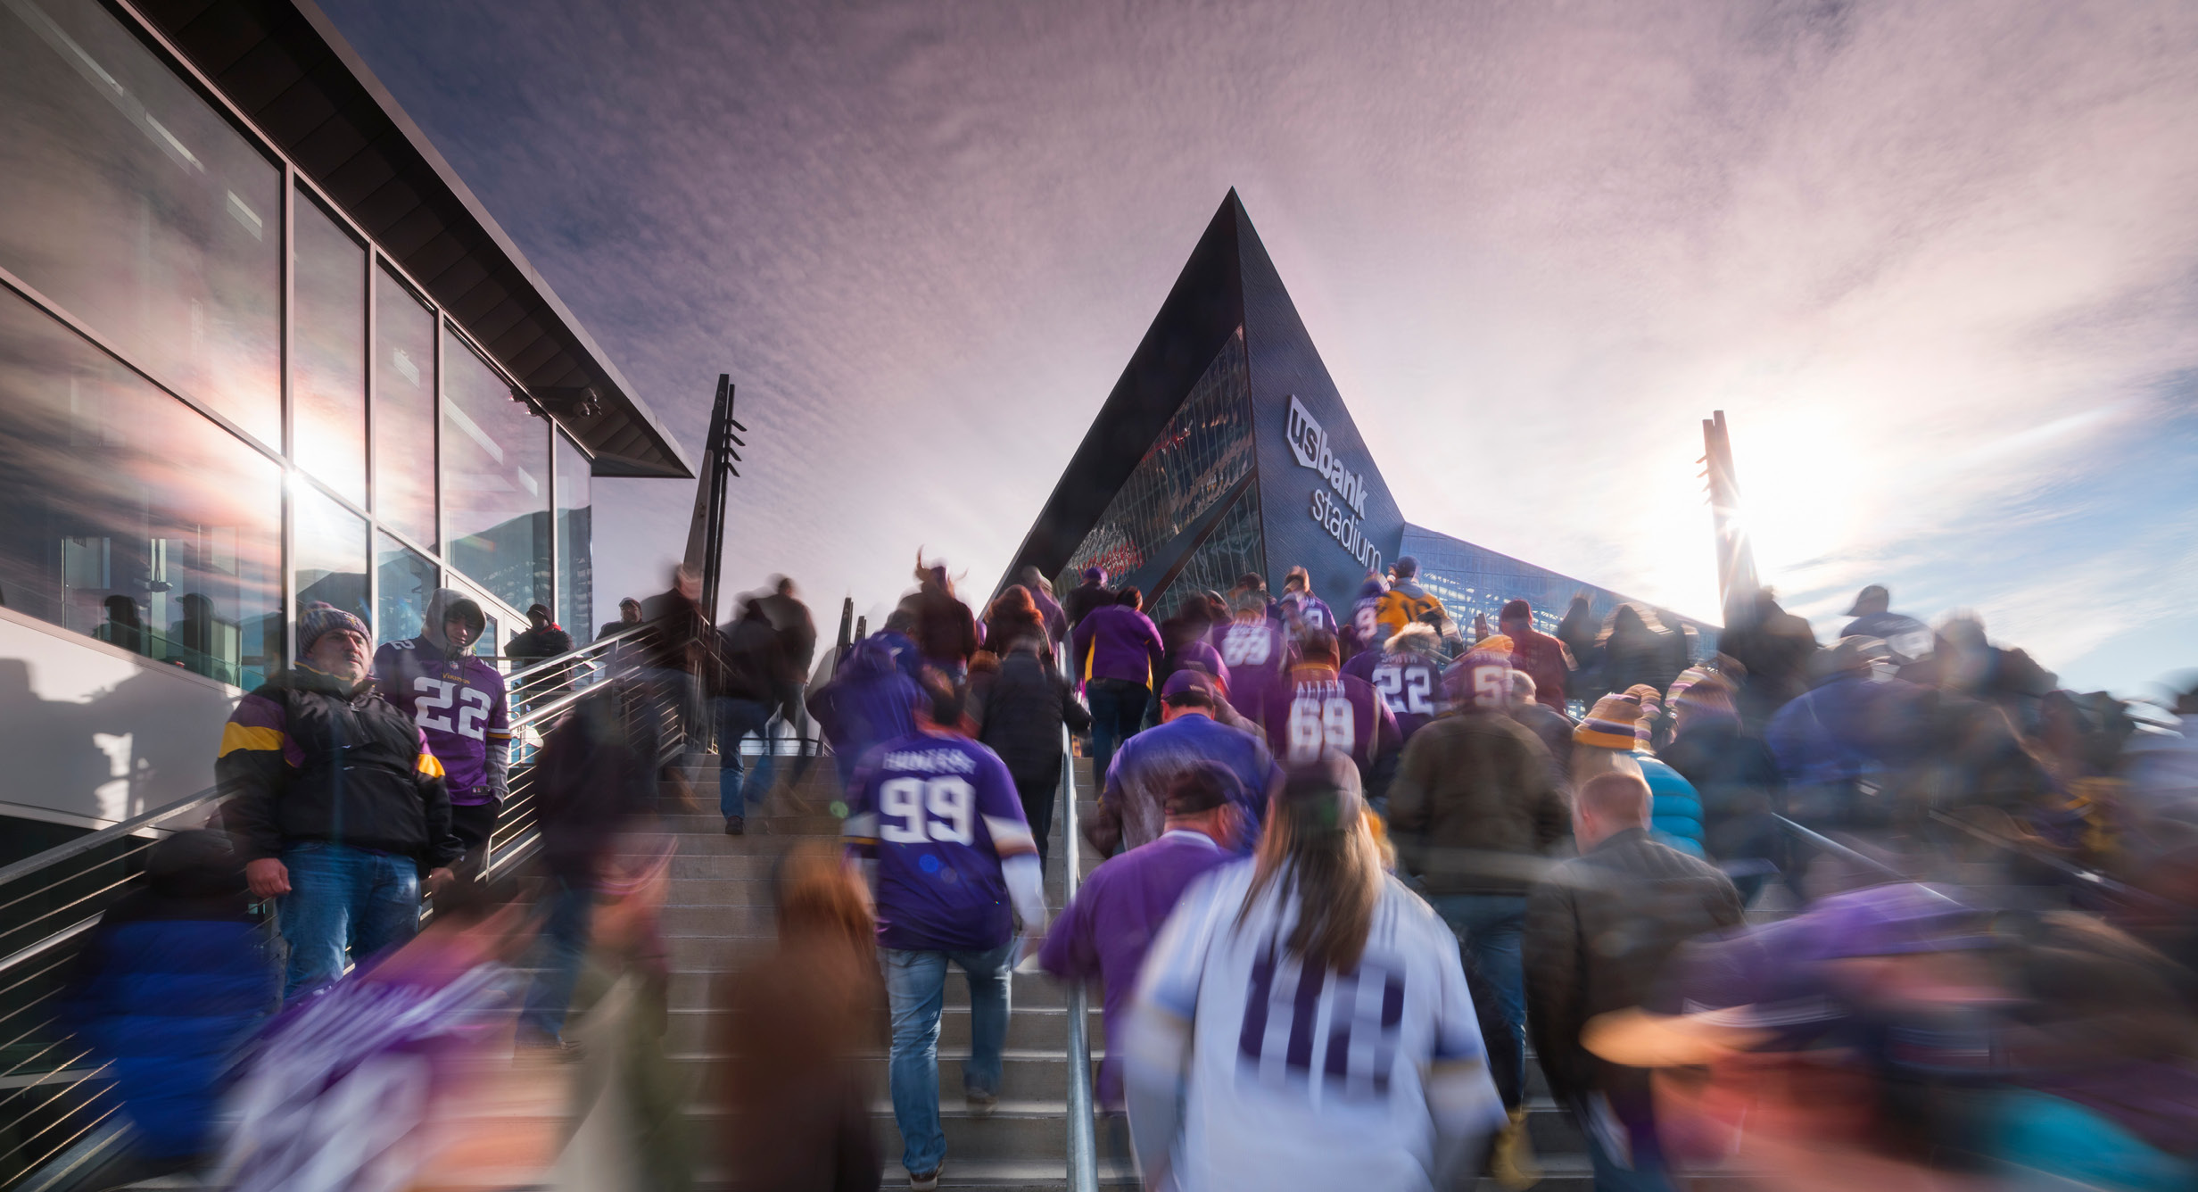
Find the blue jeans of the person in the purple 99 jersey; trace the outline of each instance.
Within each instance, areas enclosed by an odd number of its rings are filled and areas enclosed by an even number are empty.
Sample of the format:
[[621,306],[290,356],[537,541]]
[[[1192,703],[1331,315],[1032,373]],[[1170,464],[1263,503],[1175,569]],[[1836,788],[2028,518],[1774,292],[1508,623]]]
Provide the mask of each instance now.
[[1000,1091],[1000,1051],[1007,1047],[1009,963],[1015,941],[987,952],[899,952],[884,948],[886,996],[892,1003],[892,1119],[901,1126],[901,1166],[936,1170],[947,1157],[939,1128],[939,1007],[947,992],[947,961],[969,979],[969,1062],[963,1089]]

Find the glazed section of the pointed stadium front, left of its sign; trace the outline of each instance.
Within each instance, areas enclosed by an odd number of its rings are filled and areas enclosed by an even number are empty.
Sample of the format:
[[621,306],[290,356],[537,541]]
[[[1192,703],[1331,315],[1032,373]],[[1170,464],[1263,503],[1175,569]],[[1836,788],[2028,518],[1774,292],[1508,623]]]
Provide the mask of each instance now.
[[1079,572],[1090,565],[1106,567],[1108,576],[1143,567],[1147,552],[1163,548],[1231,484],[1244,479],[1251,462],[1251,372],[1240,328],[1191,385],[1183,407],[1130,471],[1090,534],[1084,534],[1068,565],[1053,578],[1053,589],[1075,589]]

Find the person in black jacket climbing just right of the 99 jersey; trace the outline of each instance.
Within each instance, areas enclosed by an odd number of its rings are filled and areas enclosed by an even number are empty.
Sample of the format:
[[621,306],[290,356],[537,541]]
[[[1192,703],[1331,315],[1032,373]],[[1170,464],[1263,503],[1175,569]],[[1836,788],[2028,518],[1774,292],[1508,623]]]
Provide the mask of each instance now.
[[1044,871],[1053,851],[1055,792],[1062,785],[1062,728],[1086,732],[1092,715],[1084,710],[1068,677],[1040,655],[1046,647],[1042,625],[1020,627],[998,644],[1007,651],[1000,666],[969,675],[969,715],[976,719],[976,739],[1000,754],[1015,781],[1015,798]]

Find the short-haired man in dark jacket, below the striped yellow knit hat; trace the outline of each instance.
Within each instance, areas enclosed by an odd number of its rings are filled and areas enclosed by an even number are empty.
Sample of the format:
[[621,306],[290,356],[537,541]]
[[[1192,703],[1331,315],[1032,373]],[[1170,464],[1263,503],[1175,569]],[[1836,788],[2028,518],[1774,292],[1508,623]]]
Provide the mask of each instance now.
[[1580,1027],[1648,1001],[1664,961],[1690,937],[1741,924],[1741,895],[1703,860],[1648,838],[1651,794],[1633,774],[1578,787],[1580,856],[1528,891],[1525,1005],[1550,1095],[1587,1135],[1596,1192],[1666,1192],[1648,1073],[1596,1060]]

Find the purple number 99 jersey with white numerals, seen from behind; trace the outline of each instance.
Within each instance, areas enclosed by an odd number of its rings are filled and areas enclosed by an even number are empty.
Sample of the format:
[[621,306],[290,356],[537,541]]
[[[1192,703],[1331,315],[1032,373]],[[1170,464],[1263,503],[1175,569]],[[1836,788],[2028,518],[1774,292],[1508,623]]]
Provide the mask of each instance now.
[[1015,935],[1000,860],[1037,853],[1007,763],[985,746],[917,732],[873,748],[840,836],[877,858],[877,943],[983,952]]

